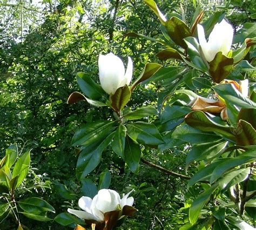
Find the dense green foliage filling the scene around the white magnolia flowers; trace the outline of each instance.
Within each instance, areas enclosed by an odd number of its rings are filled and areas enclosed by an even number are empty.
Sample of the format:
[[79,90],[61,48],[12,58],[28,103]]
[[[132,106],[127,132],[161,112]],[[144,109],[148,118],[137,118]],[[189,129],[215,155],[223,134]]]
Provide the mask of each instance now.
[[[150,0],[0,1],[1,229],[83,225],[67,209],[100,188],[134,189],[138,212],[119,229],[255,227],[254,1],[155,2],[169,25]],[[207,35],[224,17],[235,32],[233,56],[210,66],[192,31],[201,10]],[[84,85],[99,84],[109,52],[132,57],[134,70],[130,89],[106,102]],[[216,84],[224,78],[249,79],[250,98]],[[111,106],[67,104],[75,91]],[[228,121],[191,109],[196,94],[215,93]]]

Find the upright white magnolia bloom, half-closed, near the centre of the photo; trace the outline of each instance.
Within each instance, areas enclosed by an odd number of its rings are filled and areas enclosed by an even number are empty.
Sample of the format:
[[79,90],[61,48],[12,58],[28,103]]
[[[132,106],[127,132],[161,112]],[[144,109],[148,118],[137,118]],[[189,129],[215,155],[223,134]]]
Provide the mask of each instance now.
[[128,57],[125,72],[122,60],[108,53],[99,55],[99,80],[103,90],[108,94],[114,94],[119,87],[129,85],[132,79],[132,59]]

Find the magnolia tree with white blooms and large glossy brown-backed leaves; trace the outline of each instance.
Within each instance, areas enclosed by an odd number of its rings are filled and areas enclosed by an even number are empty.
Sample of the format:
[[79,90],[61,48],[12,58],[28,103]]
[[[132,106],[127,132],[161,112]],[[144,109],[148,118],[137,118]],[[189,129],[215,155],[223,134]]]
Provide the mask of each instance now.
[[[130,85],[131,58],[125,71],[122,60],[108,53],[99,55],[100,84],[88,73],[77,73],[82,93],[73,92],[68,103],[85,100],[113,111],[107,120],[86,123],[74,134],[72,146],[79,153],[77,178],[83,180],[95,170],[102,152],[111,146],[113,154],[123,159],[133,173],[137,173],[141,160],[189,179],[187,187],[197,188],[198,195],[184,207],[189,208],[189,214],[182,229],[254,229],[256,93],[251,72],[255,70],[255,52],[250,50],[255,32],[249,33],[247,30],[253,29],[247,25],[234,35],[224,12],[203,20],[203,11],[198,8],[188,25],[180,15],[164,16],[153,0],[145,3],[159,18],[163,36],[155,39],[133,32],[125,36],[162,44],[157,56],[160,60],[176,59],[176,65],[147,63]],[[140,83],[160,86],[157,108],[132,110],[126,106]],[[163,152],[176,146],[190,149],[186,169],[197,167],[192,177],[143,157],[145,149]],[[82,211],[68,209],[79,219],[62,213],[55,220],[62,225],[73,221],[89,224],[92,229],[112,229],[125,215],[136,211],[133,199],[127,198],[129,194],[121,199],[115,191],[99,190],[96,196],[79,199]],[[69,222],[65,222],[67,218]]]

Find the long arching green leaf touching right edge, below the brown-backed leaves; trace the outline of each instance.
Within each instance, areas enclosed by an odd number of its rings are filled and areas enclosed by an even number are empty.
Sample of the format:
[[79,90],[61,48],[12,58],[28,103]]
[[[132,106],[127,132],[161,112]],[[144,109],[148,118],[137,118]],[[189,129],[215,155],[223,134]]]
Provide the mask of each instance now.
[[214,182],[221,177],[226,171],[230,170],[239,165],[244,165],[251,163],[256,160],[256,150],[251,149],[246,152],[243,152],[241,155],[235,158],[226,158],[225,161],[219,164],[212,172],[210,182]]

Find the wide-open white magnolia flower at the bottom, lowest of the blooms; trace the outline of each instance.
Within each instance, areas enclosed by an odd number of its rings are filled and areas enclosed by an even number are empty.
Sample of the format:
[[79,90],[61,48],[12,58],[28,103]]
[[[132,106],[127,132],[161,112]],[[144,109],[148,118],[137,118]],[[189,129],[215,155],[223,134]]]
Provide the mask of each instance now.
[[99,190],[98,194],[93,197],[93,199],[90,197],[82,197],[79,199],[78,205],[83,211],[68,208],[68,212],[76,215],[80,219],[103,222],[104,213],[116,210],[122,211],[125,205],[133,205],[133,197],[128,198],[131,192],[132,191],[120,199],[120,195],[114,190]]

